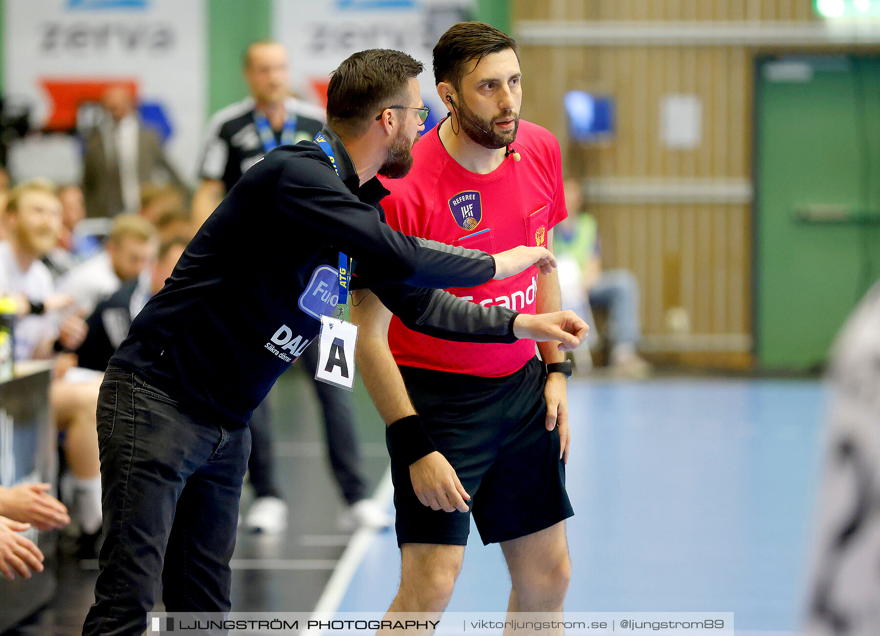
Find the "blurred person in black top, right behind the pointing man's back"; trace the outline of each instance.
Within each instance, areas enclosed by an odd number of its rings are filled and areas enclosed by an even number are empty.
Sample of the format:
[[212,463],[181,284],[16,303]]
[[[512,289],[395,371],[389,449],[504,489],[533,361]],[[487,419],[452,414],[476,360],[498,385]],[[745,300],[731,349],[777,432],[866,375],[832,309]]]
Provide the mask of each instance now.
[[126,282],[113,296],[98,304],[87,320],[89,333],[77,349],[80,367],[102,372],[106,369],[116,347],[128,335],[131,321],[150,297],[165,286],[188,241],[188,238],[177,237],[163,242],[156,261],[148,268],[150,275]]

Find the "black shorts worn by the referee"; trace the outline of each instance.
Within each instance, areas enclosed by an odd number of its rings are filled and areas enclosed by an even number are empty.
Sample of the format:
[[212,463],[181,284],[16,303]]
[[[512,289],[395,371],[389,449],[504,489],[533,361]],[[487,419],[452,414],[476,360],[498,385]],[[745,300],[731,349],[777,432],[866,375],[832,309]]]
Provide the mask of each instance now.
[[545,427],[537,358],[504,377],[413,367],[400,373],[437,450],[473,500],[468,512],[432,510],[415,496],[409,466],[392,460],[398,545],[466,545],[472,512],[483,544],[525,537],[574,515],[559,431]]

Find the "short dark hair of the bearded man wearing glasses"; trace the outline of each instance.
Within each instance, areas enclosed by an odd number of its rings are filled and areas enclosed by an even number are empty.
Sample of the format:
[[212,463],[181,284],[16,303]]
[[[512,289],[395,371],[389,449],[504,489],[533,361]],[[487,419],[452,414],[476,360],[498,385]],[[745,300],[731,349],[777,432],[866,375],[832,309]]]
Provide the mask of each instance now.
[[330,75],[327,86],[327,123],[337,134],[358,136],[378,111],[394,104],[407,83],[424,70],[422,62],[400,51],[370,48],[350,55]]

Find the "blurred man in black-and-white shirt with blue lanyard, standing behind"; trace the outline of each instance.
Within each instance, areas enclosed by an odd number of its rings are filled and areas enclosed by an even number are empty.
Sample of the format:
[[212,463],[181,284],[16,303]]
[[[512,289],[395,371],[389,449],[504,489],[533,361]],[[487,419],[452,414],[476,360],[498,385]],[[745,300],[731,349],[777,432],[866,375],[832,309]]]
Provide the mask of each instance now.
[[277,42],[256,42],[245,54],[251,96],[211,118],[193,197],[193,223],[205,222],[241,175],[282,144],[312,140],[326,114],[290,97],[287,51]]

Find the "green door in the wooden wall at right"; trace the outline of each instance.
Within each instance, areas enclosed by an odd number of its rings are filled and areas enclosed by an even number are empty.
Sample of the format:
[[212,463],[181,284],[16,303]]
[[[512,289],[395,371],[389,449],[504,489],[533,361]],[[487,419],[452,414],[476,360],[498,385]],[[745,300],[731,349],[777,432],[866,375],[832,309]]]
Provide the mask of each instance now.
[[759,362],[805,369],[880,273],[880,58],[756,65]]

